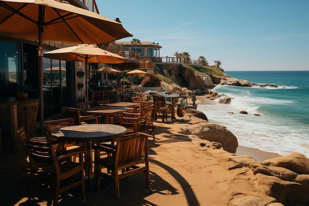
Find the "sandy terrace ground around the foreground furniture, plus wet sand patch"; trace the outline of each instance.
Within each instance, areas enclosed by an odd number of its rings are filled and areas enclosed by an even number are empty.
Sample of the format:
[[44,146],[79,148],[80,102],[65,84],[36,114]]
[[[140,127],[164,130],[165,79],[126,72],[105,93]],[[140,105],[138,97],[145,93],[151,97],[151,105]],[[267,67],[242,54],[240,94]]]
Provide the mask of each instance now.
[[[237,198],[247,196],[270,199],[259,192],[251,169],[229,169],[230,163],[220,155],[201,147],[188,136],[179,133],[187,124],[177,121],[154,123],[155,141],[150,143],[151,188],[146,187],[143,173],[120,180],[120,199],[116,199],[114,185],[96,192],[87,192],[81,202],[77,191],[64,193],[59,206],[224,206],[240,205]],[[222,151],[222,150],[220,150]],[[233,154],[231,154],[233,155]],[[237,155],[249,155],[263,161],[278,155],[257,149],[239,147]],[[18,155],[1,154],[1,205],[27,205],[28,179],[20,189],[16,186]],[[239,175],[243,173],[243,175]],[[235,194],[237,198],[235,198]],[[47,190],[34,190],[31,205],[49,205]],[[273,200],[272,200],[273,201]]]

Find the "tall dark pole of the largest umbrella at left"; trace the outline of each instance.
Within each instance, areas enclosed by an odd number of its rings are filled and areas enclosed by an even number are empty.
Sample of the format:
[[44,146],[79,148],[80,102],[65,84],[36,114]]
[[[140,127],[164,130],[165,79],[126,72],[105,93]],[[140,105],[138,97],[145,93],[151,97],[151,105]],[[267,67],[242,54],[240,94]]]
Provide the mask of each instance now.
[[39,122],[40,135],[44,135],[44,93],[43,93],[43,32],[44,27],[40,26],[43,22],[43,6],[39,6]]

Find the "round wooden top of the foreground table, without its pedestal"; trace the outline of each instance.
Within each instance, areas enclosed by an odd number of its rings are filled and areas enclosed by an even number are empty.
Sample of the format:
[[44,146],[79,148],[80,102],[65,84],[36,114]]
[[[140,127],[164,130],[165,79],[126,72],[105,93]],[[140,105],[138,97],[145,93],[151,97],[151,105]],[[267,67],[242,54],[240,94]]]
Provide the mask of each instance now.
[[55,129],[51,136],[77,142],[95,141],[122,136],[126,130],[125,127],[116,124],[82,124]]

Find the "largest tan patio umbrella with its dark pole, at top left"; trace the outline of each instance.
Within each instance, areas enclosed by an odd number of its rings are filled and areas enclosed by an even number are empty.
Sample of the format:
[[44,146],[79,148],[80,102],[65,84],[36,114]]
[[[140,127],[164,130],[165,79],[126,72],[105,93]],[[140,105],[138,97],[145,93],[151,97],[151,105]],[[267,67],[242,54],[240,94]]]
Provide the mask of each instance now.
[[43,135],[43,40],[104,43],[132,37],[119,22],[56,0],[0,0],[0,35],[39,41],[40,129]]

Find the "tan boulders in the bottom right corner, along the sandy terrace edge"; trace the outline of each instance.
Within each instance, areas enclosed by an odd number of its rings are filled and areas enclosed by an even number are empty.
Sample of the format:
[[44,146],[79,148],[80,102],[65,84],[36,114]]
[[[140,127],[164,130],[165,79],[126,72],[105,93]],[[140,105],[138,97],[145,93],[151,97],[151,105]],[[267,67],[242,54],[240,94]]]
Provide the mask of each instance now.
[[[250,156],[236,156],[214,147],[212,142],[194,140],[194,145],[207,148],[209,155],[227,162],[227,169],[239,170],[239,178],[252,172],[255,187],[261,197],[235,195],[233,206],[308,206],[309,205],[309,159],[300,153],[257,162]],[[236,178],[237,179],[237,178]],[[249,179],[248,179],[249,180]],[[268,197],[265,197],[268,196]],[[264,196],[264,197],[263,197]],[[262,198],[263,197],[263,198]]]

